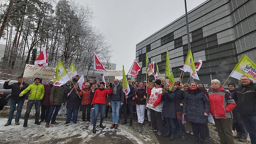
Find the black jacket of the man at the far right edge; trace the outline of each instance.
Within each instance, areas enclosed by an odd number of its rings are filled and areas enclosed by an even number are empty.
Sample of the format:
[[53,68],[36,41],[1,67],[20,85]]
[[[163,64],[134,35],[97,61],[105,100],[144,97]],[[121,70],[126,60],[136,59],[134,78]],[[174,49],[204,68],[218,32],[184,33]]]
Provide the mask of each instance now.
[[248,86],[236,89],[233,95],[236,109],[241,115],[256,116],[256,85],[250,82]]

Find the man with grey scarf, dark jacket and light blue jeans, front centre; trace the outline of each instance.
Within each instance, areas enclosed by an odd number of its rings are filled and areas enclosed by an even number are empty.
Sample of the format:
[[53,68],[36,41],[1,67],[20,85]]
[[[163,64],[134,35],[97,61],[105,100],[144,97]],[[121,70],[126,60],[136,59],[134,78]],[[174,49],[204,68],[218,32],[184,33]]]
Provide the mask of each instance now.
[[109,106],[112,108],[112,126],[111,129],[117,129],[119,120],[119,109],[124,104],[123,86],[118,79],[114,79],[113,94],[108,96]]

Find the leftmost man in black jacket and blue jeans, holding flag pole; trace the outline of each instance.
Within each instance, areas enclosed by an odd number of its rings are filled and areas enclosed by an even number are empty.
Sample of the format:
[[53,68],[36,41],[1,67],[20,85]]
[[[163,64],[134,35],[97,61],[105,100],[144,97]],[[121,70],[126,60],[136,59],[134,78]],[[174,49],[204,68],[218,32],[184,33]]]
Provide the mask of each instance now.
[[4,126],[8,126],[12,123],[12,118],[13,118],[13,113],[14,113],[14,110],[15,110],[15,107],[16,107],[16,104],[17,105],[17,113],[16,113],[16,117],[15,117],[15,124],[16,125],[19,125],[19,120],[20,120],[20,114],[21,114],[21,110],[22,110],[22,106],[23,106],[23,103],[26,99],[26,95],[23,95],[21,97],[19,97],[19,94],[28,87],[28,84],[22,82],[22,79],[23,77],[22,76],[19,76],[17,78],[18,82],[17,83],[13,83],[11,85],[8,85],[8,83],[11,81],[11,80],[7,80],[5,81],[4,83],[4,89],[12,89],[12,95],[11,95],[11,99],[10,99],[10,112],[9,112],[9,118],[8,118],[8,121],[7,123],[4,125]]

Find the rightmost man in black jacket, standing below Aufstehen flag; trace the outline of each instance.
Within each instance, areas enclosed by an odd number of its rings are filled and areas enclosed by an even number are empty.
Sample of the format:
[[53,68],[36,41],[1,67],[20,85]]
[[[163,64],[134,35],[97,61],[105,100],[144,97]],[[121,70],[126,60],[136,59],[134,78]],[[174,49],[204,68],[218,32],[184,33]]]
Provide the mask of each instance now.
[[248,76],[240,78],[241,87],[236,89],[234,100],[236,109],[242,115],[246,131],[250,135],[251,143],[256,143],[256,85],[250,82]]

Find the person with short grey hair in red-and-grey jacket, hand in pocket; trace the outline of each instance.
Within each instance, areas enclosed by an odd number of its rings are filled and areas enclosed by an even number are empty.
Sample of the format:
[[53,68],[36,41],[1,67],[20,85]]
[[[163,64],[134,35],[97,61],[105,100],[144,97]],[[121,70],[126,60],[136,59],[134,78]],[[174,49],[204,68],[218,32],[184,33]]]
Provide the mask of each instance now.
[[214,79],[211,84],[212,90],[209,92],[209,104],[220,137],[220,143],[234,144],[231,112],[236,107],[236,103],[230,93],[220,86],[219,80]]

